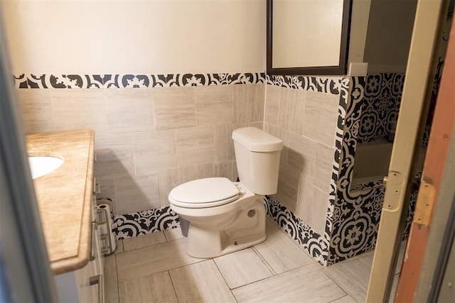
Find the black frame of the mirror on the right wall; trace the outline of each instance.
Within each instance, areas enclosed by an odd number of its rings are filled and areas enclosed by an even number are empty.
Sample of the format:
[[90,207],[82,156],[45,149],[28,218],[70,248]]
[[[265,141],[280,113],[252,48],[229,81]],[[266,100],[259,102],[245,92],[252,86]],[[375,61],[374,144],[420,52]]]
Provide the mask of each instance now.
[[[322,1],[322,0],[321,0]],[[350,3],[343,0],[343,24],[341,26],[340,64],[321,67],[272,67],[273,0],[267,0],[267,74],[268,75],[346,75],[350,28]]]

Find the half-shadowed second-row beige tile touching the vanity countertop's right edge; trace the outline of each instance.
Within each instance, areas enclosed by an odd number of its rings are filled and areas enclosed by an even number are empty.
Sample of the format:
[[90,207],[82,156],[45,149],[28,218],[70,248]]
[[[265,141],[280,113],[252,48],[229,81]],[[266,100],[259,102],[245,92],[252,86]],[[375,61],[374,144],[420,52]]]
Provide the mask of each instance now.
[[133,142],[129,133],[95,138],[95,175],[119,176],[134,173]]

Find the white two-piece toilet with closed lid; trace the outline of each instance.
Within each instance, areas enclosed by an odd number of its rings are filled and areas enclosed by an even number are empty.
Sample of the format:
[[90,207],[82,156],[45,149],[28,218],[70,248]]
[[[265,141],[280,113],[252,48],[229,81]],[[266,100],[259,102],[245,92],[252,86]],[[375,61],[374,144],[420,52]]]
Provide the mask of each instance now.
[[255,127],[232,132],[240,182],[193,180],[169,193],[171,209],[189,221],[187,253],[213,258],[264,241],[264,194],[275,194],[283,142]]

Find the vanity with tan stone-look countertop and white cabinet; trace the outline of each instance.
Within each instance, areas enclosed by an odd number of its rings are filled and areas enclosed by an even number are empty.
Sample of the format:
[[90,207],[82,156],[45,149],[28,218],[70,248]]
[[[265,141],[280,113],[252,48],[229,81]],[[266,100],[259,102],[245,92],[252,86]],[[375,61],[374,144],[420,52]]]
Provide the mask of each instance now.
[[93,176],[95,132],[33,133],[26,140],[29,157],[63,160],[57,169],[33,179],[59,300],[104,302]]

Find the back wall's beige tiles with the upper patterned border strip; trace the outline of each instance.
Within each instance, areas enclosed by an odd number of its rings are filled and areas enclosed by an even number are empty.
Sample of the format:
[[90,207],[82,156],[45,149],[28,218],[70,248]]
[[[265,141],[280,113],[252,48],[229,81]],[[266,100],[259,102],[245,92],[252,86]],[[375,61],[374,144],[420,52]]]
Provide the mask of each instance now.
[[27,133],[95,130],[95,176],[115,215],[168,206],[189,180],[235,180],[230,135],[264,116],[264,74],[19,75],[16,87]]

